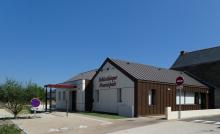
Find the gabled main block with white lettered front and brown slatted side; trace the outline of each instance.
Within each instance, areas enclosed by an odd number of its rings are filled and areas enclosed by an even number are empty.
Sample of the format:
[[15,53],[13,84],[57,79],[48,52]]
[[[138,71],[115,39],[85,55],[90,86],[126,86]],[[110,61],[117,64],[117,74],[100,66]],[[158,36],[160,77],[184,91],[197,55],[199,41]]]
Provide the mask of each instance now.
[[185,80],[182,110],[209,108],[209,87],[184,72],[107,58],[92,79],[92,110],[129,117],[176,111],[178,76]]

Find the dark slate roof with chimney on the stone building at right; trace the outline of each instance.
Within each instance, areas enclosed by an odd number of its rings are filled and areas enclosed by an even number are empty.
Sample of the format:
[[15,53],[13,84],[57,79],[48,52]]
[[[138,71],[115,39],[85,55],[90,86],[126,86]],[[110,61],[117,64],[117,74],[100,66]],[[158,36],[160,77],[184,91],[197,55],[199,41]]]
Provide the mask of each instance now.
[[181,68],[215,61],[220,61],[220,46],[194,52],[185,52],[178,57],[171,68]]

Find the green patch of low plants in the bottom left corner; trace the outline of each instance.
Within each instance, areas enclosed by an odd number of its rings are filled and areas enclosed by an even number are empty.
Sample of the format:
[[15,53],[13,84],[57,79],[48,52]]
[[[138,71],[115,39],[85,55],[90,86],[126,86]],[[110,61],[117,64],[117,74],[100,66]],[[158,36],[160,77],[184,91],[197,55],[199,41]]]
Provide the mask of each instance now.
[[0,126],[0,134],[21,134],[21,130],[15,125],[2,125]]

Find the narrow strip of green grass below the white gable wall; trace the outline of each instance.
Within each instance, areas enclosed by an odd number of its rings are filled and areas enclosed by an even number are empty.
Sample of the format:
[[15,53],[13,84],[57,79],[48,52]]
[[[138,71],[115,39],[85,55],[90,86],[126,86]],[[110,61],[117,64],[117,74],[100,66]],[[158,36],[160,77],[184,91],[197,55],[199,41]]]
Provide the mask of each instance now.
[[102,118],[108,118],[108,119],[125,119],[125,118],[127,118],[127,117],[119,116],[119,115],[116,115],[116,114],[97,113],[97,112],[79,112],[79,114],[102,117]]

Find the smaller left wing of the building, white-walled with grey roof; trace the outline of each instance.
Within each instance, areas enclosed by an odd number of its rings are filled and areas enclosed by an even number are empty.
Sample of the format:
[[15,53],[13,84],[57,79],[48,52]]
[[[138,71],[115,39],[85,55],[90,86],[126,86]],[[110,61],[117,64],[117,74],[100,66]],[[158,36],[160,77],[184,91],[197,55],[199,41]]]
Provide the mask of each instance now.
[[69,111],[91,111],[93,102],[93,87],[91,79],[96,70],[80,73],[73,78],[61,83],[75,85],[74,89],[56,89],[56,109]]

